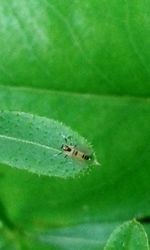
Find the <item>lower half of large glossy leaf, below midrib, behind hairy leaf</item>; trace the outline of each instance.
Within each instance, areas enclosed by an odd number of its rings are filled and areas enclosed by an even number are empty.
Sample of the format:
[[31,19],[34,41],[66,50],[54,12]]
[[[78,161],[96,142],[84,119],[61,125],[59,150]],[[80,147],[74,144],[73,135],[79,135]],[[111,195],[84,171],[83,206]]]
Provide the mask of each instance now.
[[[11,221],[27,232],[62,233],[74,225],[98,222],[103,229],[108,223],[103,249],[113,223],[149,215],[149,99],[1,87],[0,106],[63,121],[92,142],[102,162],[90,175],[65,180],[1,165],[0,196]],[[85,241],[86,230],[78,234]]]

